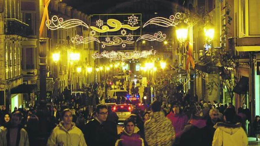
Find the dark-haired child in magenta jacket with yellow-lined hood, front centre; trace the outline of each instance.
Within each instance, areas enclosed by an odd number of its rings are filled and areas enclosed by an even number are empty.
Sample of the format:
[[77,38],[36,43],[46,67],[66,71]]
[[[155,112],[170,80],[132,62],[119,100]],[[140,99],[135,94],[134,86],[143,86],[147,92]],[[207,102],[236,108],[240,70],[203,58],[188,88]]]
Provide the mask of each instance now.
[[135,126],[134,119],[128,118],[124,121],[124,128],[119,134],[115,146],[143,146],[144,140],[138,134],[139,128]]

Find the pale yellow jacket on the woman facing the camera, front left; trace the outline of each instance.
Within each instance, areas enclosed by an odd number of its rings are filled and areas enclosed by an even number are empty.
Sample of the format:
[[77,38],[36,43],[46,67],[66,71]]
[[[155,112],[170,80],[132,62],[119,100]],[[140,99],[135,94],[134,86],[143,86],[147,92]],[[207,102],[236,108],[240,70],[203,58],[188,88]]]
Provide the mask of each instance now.
[[87,146],[82,131],[72,123],[68,131],[61,121],[52,131],[48,139],[47,146],[56,146],[62,143],[62,146]]

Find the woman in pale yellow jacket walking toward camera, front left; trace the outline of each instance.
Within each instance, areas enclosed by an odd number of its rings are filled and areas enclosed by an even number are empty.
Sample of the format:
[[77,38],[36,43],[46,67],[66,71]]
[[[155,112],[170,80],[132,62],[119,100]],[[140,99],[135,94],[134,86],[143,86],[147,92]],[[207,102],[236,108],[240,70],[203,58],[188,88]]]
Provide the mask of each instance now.
[[72,112],[64,109],[61,113],[62,121],[53,129],[47,146],[87,146],[82,131],[72,122]]

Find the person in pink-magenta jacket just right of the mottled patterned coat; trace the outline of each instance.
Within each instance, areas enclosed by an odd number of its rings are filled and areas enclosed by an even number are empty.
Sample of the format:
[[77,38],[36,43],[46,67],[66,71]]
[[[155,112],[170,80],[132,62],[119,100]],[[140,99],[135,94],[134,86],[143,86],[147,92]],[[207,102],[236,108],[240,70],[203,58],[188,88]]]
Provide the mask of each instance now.
[[179,138],[185,125],[188,124],[188,117],[183,112],[180,112],[180,106],[177,101],[172,103],[171,112],[167,115],[167,118],[172,122],[175,137]]

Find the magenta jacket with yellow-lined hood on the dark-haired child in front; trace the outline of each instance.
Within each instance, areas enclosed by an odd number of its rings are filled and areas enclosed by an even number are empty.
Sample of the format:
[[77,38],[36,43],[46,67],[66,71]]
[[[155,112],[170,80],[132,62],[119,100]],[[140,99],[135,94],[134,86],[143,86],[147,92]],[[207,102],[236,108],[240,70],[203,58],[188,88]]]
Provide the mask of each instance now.
[[138,127],[134,127],[133,134],[127,133],[125,128],[123,128],[120,134],[120,139],[116,141],[115,146],[144,146],[144,140],[137,132],[139,132]]

